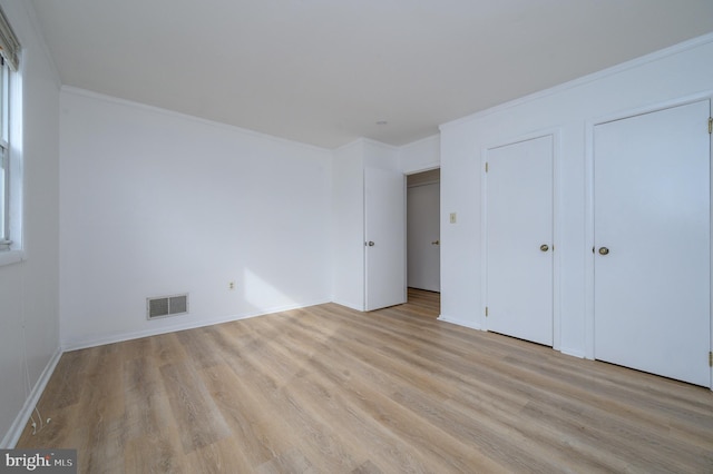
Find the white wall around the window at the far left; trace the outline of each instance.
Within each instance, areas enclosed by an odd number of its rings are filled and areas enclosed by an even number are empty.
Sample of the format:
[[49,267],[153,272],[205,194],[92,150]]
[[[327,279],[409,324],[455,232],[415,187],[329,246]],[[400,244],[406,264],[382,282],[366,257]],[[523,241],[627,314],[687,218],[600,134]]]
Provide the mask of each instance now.
[[29,2],[0,4],[22,45],[23,101],[26,259],[0,266],[0,447],[7,447],[59,356],[59,77]]

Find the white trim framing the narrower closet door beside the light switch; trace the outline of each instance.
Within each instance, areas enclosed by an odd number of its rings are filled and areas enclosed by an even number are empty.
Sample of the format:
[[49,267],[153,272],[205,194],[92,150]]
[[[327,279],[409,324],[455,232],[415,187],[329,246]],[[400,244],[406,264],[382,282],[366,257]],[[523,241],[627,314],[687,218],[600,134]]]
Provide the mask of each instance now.
[[486,162],[488,161],[488,151],[516,145],[522,141],[529,141],[537,138],[553,138],[553,349],[561,350],[561,186],[560,180],[560,162],[561,162],[561,128],[546,128],[526,135],[504,138],[492,141],[480,150],[480,300],[482,306],[480,314],[476,315],[476,320],[480,320],[480,329],[488,330],[488,319],[485,316],[488,306],[488,177],[486,174]]

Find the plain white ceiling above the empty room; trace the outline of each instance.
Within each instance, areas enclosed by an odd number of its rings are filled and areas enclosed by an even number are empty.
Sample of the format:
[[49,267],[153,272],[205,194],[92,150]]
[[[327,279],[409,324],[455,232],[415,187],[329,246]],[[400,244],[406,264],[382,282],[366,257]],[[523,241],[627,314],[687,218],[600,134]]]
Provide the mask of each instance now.
[[711,0],[32,3],[64,85],[326,148],[403,145],[713,31]]

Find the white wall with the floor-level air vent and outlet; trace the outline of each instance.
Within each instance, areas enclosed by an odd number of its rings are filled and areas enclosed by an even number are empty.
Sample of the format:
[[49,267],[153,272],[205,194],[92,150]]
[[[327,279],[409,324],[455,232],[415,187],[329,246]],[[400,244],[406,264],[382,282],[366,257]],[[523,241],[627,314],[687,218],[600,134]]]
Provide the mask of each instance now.
[[60,122],[64,346],[330,300],[330,151],[67,88]]

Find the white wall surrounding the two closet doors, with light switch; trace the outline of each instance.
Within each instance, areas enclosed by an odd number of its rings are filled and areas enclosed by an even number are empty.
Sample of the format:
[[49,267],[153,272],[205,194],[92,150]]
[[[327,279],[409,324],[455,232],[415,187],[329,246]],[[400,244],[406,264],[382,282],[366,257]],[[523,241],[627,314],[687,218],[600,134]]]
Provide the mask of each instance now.
[[[624,117],[713,92],[713,36],[560,86],[441,127],[441,312],[481,326],[481,154],[538,130],[559,134],[555,243],[561,323],[560,348],[593,356],[587,258],[586,162],[596,121]],[[705,125],[702,125],[705,132]],[[448,213],[458,223],[448,224]],[[555,332],[557,334],[557,332]],[[557,345],[557,342],[555,343]]]

